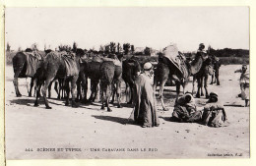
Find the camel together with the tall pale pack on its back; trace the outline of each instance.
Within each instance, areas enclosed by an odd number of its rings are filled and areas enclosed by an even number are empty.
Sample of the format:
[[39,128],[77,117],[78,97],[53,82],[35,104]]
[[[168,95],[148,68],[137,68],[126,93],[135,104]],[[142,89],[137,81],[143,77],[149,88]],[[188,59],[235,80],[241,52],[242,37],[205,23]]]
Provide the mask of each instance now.
[[183,86],[183,92],[189,81],[189,77],[197,74],[203,62],[207,59],[204,54],[197,54],[192,62],[186,61],[186,58],[180,53],[175,44],[170,44],[162,51],[159,56],[159,63],[157,65],[156,74],[154,78],[154,86],[160,83],[160,101],[163,110],[167,110],[163,103],[163,86],[170,78],[176,84],[176,100],[180,93],[180,85]]

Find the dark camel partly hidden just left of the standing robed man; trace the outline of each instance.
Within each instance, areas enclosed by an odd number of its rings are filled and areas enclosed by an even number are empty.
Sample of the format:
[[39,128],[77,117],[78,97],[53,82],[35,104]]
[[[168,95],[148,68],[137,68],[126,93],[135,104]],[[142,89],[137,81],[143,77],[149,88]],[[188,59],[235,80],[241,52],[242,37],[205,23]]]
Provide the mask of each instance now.
[[133,101],[133,86],[134,86],[134,81],[135,78],[137,77],[138,73],[141,72],[141,65],[140,63],[134,58],[130,58],[130,59],[126,59],[125,61],[123,61],[123,74],[122,74],[122,78],[123,81],[126,84],[126,92],[127,92],[127,87],[130,88],[131,91],[131,98],[130,100],[127,102],[127,104],[131,104]]

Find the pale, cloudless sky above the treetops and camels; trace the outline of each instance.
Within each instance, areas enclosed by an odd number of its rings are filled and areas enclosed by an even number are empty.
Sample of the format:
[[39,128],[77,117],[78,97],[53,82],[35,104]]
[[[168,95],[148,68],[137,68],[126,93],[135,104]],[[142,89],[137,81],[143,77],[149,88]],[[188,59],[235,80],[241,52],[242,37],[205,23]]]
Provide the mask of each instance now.
[[110,41],[158,50],[169,43],[180,51],[200,43],[249,49],[248,7],[7,8],[5,17],[5,41],[14,50],[74,41],[87,49]]

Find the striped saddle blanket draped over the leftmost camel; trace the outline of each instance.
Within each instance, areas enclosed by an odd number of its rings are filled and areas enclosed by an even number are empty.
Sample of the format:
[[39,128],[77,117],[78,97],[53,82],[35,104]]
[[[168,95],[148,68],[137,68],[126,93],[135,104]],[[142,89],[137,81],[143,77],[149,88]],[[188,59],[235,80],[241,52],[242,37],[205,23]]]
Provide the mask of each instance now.
[[27,60],[27,70],[26,70],[26,76],[32,77],[37,68],[38,68],[38,62],[42,60],[40,54],[37,52],[23,52],[26,55]]

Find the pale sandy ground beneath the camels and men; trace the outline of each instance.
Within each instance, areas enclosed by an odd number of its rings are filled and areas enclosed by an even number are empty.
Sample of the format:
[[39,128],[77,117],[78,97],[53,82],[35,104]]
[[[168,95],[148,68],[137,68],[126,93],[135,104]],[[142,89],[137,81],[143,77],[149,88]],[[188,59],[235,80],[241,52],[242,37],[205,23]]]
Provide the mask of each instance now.
[[[45,109],[42,99],[39,107],[33,107],[34,97],[28,97],[25,79],[19,80],[23,96],[16,97],[13,69],[7,66],[7,159],[249,157],[249,107],[237,98],[239,74],[233,73],[239,68],[222,66],[221,85],[209,84],[209,91],[217,91],[224,102],[228,127],[170,122],[175,95],[175,88],[170,87],[164,91],[170,111],[161,111],[158,100],[160,127],[144,129],[127,124],[132,108],[126,104],[112,106],[110,113],[100,110],[99,103],[72,108],[55,99],[53,92],[51,110]],[[199,108],[206,101],[196,99]]]

